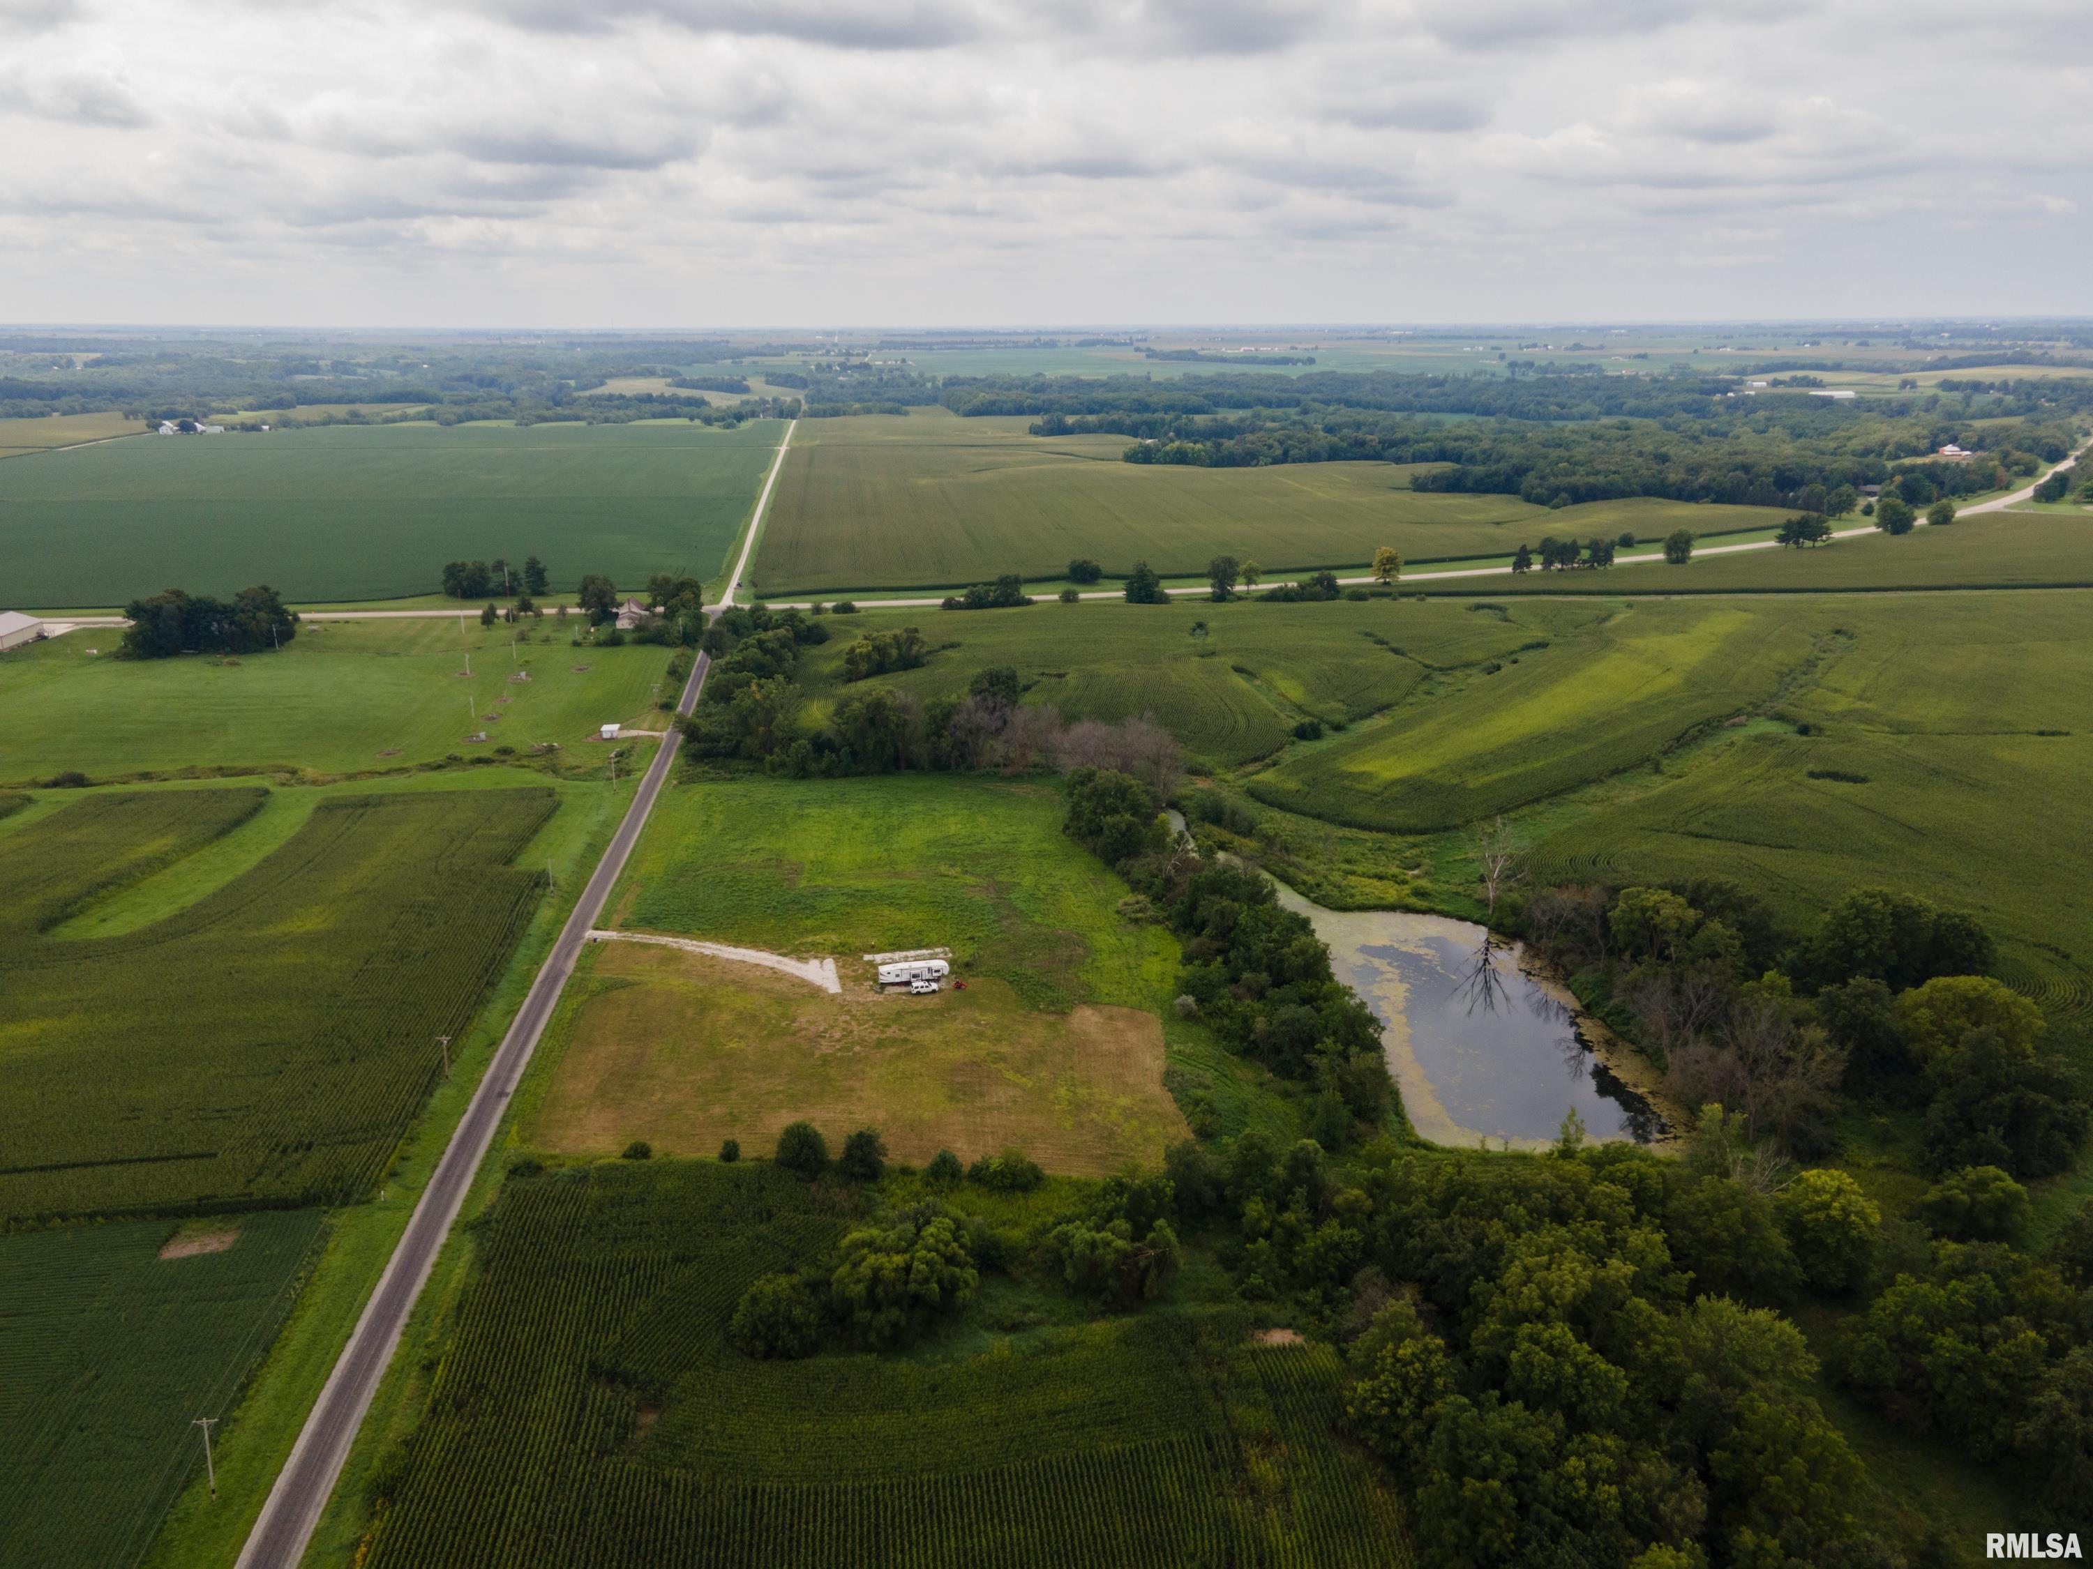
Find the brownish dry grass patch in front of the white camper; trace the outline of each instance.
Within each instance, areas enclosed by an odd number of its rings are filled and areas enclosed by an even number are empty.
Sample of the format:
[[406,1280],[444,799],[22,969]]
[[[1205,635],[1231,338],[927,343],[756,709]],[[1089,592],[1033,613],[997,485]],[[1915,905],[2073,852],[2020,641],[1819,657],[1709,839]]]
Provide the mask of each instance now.
[[806,1117],[839,1146],[879,1128],[898,1161],[1015,1144],[1051,1172],[1155,1165],[1189,1130],[1164,1090],[1164,1033],[1139,1008],[1032,1013],[1003,981],[843,996],[747,964],[605,943],[563,1021],[523,1138],[546,1151],[766,1153]]

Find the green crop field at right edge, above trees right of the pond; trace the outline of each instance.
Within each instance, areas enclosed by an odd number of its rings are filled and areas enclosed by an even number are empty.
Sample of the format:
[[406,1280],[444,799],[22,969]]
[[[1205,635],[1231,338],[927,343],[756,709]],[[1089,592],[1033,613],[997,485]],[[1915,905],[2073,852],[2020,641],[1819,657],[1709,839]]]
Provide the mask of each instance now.
[[2093,1023],[2076,851],[2093,843],[2093,594],[1754,613],[1827,636],[1813,678],[1781,697],[1794,724],[1752,726],[1551,818],[1534,874],[1729,877],[1798,927],[1852,887],[1903,887],[1978,912],[2013,985],[2051,1019]]

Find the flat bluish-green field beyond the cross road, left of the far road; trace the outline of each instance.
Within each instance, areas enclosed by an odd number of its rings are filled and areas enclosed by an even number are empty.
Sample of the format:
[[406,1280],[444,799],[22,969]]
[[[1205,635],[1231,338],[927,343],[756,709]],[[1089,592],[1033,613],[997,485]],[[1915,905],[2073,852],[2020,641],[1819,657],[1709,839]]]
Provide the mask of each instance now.
[[[57,420],[52,420],[57,423]],[[712,577],[747,521],[777,423],[333,425],[151,437],[0,462],[13,609],[123,605],[180,586],[285,598],[429,594],[446,561]]]

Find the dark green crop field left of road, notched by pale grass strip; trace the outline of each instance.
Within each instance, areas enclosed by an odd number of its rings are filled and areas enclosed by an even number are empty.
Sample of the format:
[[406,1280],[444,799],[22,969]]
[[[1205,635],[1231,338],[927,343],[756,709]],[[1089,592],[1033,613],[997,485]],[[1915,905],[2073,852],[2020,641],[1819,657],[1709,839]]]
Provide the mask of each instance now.
[[[548,789],[333,795],[209,891],[262,789],[96,791],[0,835],[0,1218],[343,1203],[544,889]],[[94,925],[94,902],[161,908]],[[188,895],[188,897],[182,897]]]

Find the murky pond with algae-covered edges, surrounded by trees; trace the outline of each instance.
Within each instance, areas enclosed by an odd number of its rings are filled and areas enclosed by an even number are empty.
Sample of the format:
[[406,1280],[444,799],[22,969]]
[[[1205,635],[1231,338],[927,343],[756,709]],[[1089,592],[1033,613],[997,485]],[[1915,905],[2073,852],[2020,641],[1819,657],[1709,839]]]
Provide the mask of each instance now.
[[1381,1021],[1411,1125],[1434,1144],[1540,1149],[1576,1111],[1591,1138],[1647,1144],[1666,1128],[1580,1033],[1574,998],[1520,967],[1484,927],[1406,910],[1325,910],[1283,883],[1337,979]]

